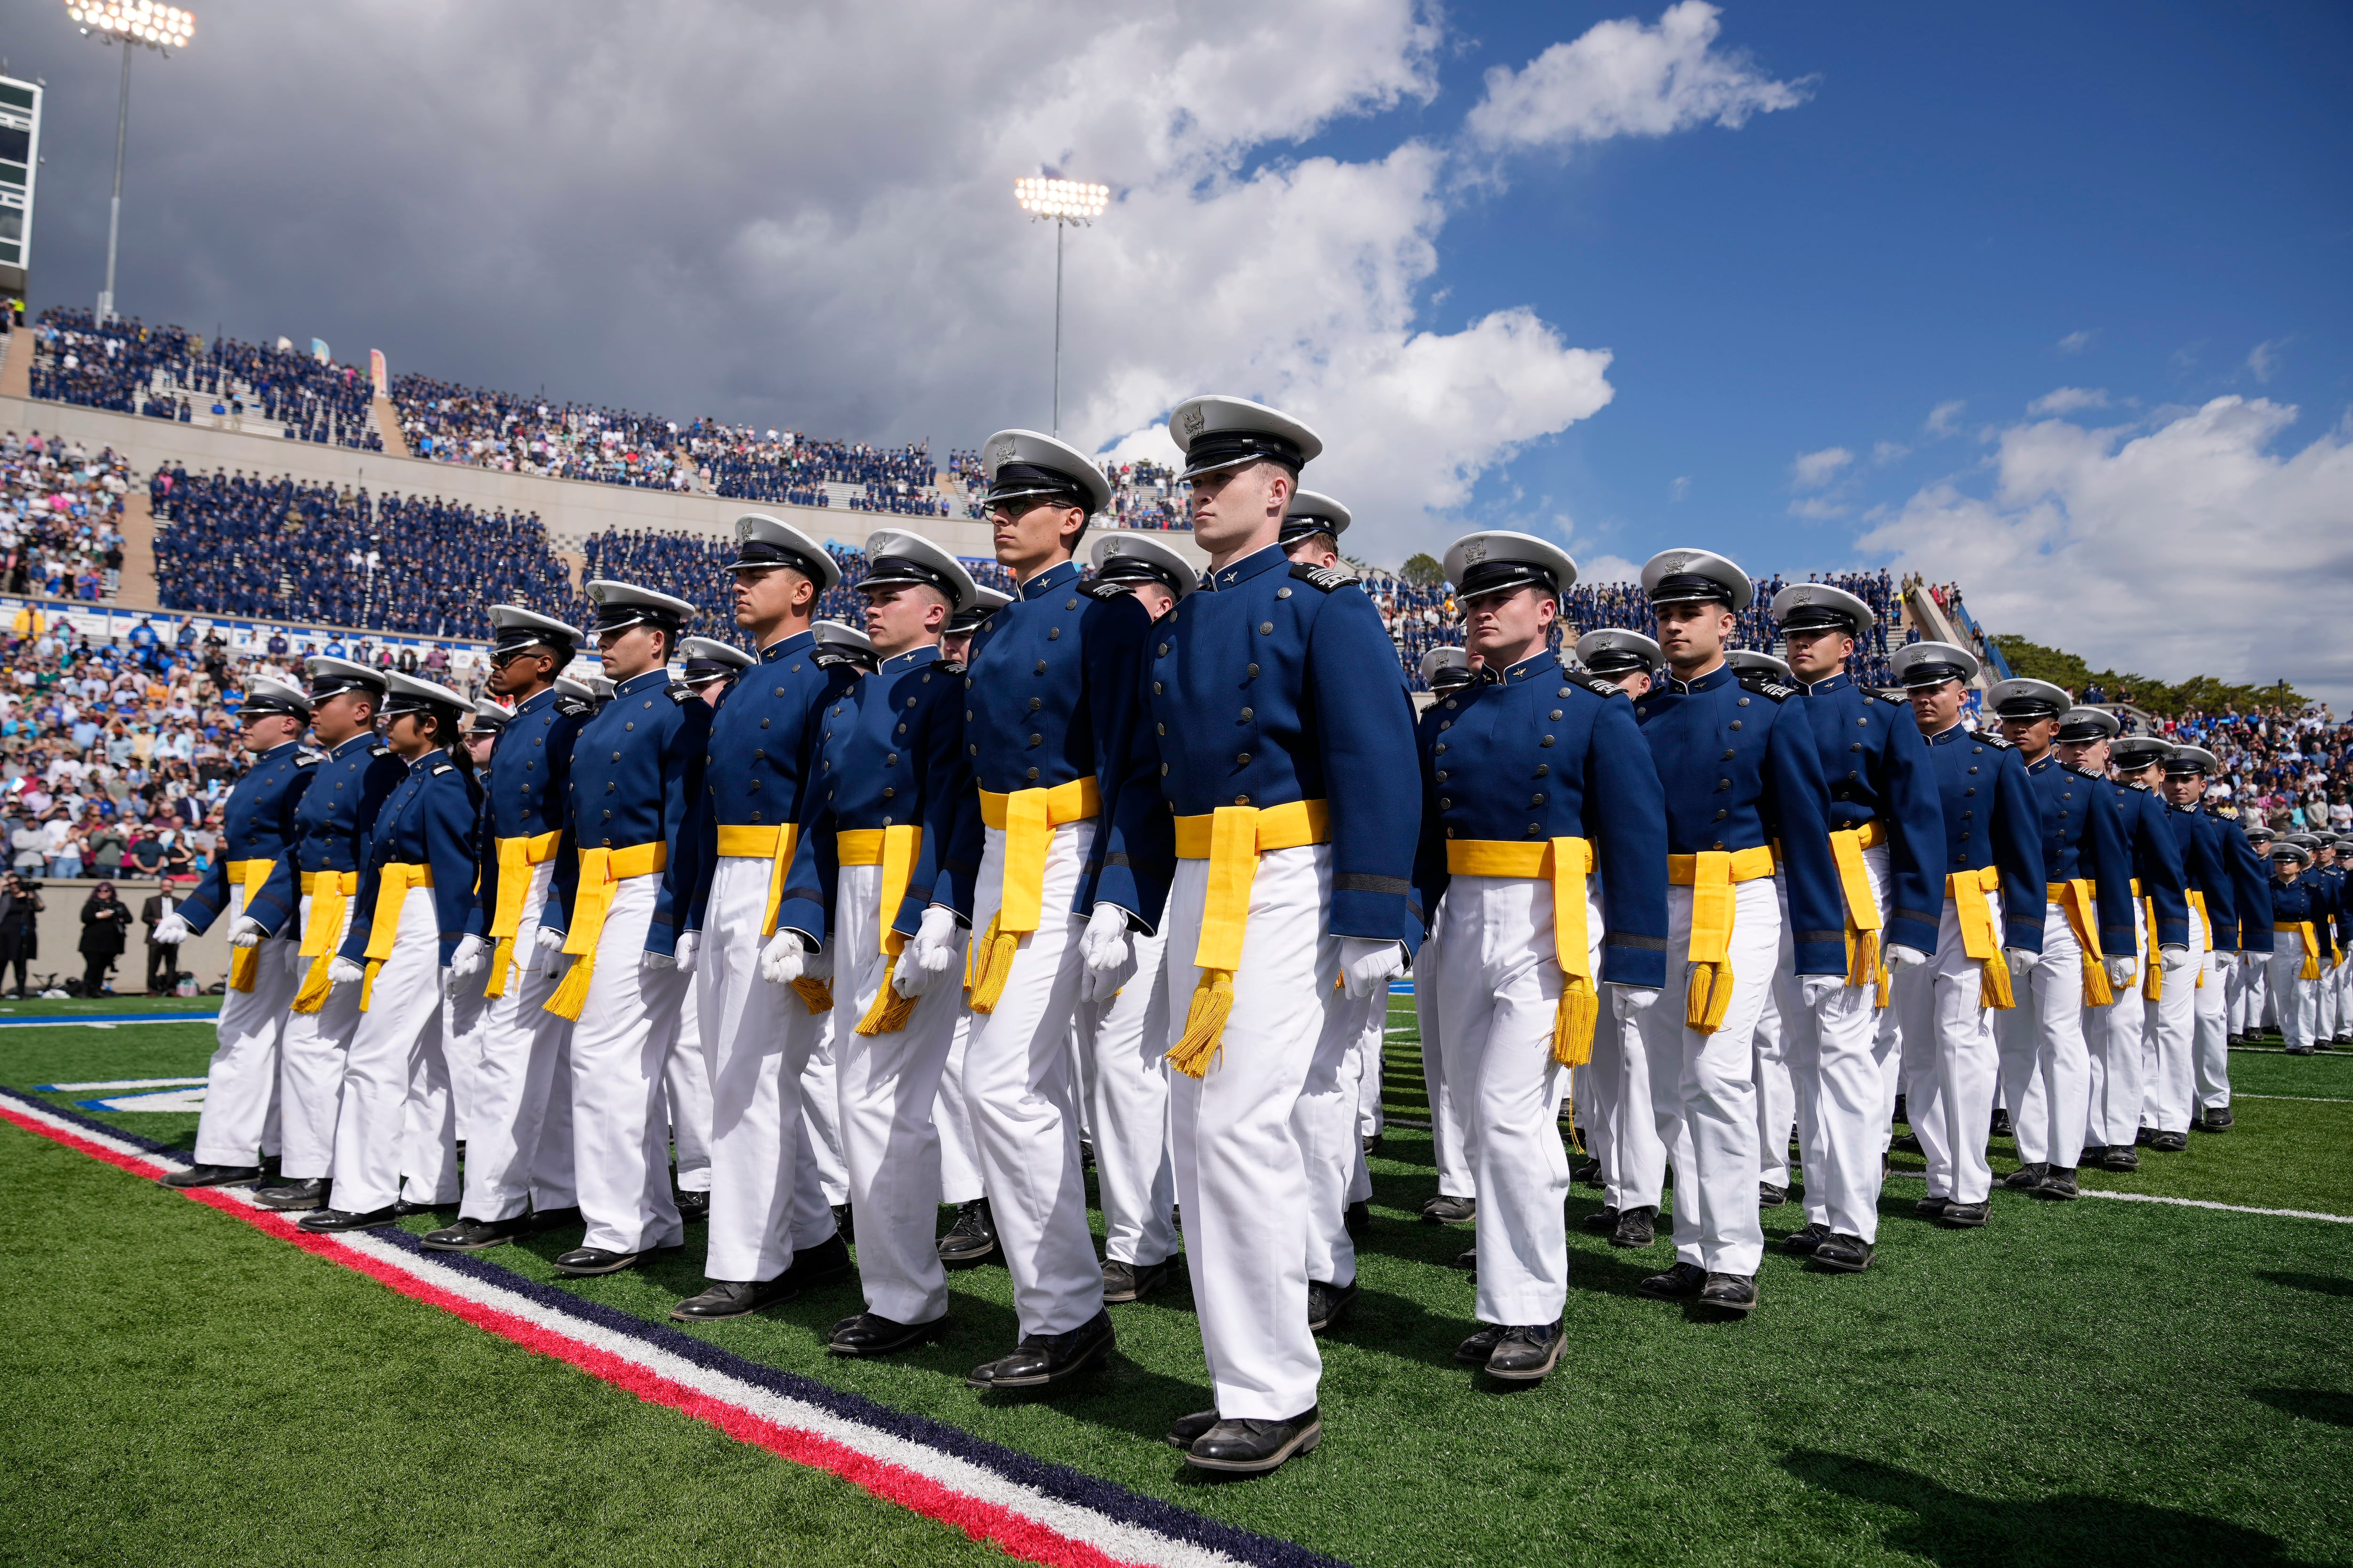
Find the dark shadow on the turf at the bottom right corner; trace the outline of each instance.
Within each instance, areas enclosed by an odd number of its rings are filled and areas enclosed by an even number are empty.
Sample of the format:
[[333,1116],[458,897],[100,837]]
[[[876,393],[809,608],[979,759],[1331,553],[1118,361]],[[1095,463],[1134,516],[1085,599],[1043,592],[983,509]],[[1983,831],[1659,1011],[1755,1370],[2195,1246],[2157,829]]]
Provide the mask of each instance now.
[[2071,1568],[2148,1568],[2148,1563],[2289,1566],[2275,1535],[2160,1509],[2122,1497],[2061,1495],[2031,1502],[1977,1497],[1913,1469],[1819,1448],[1784,1455],[1781,1467],[1807,1486],[1875,1507],[1904,1509],[1882,1544],[1939,1568],[2014,1568],[2021,1561]]

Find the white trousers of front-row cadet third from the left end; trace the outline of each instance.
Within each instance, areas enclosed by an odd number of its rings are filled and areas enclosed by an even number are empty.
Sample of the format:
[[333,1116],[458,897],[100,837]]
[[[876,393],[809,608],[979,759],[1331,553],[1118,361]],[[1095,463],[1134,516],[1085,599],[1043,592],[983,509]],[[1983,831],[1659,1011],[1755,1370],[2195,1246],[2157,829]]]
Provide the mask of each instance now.
[[[344,1053],[344,1105],[334,1124],[334,1206],[341,1211],[374,1213],[400,1199],[409,1084],[419,1072],[442,1093],[449,1084],[440,1065],[447,976],[433,891],[409,889],[400,900],[393,952],[367,987],[367,1011]],[[424,1067],[426,1058],[435,1065]],[[424,1175],[438,1182],[442,1173]]]

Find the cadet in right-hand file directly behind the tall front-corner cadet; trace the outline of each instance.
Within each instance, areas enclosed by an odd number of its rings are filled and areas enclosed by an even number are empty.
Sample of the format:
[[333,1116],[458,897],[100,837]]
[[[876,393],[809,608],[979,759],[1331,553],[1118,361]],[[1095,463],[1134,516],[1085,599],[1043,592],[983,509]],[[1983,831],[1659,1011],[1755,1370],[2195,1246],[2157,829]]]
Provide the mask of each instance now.
[[1626,693],[1569,675],[1551,649],[1577,562],[1485,531],[1445,564],[1466,646],[1492,670],[1440,698],[1447,717],[1426,731],[1414,858],[1442,952],[1445,1077],[1471,1100],[1482,1199],[1485,1328],[1454,1359],[1534,1382],[1560,1359],[1569,1284],[1562,1070],[1591,1058],[1602,985],[1666,985],[1666,802]]

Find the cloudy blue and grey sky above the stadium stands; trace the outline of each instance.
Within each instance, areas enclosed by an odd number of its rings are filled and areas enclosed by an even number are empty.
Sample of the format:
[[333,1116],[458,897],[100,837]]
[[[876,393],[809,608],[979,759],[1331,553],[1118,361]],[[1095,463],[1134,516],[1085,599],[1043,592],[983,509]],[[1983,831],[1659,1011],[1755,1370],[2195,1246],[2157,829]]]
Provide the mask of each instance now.
[[[1993,630],[2353,698],[2337,5],[209,0],[134,63],[120,306],[934,451],[1278,402],[1377,562],[1466,527],[1958,578]],[[49,85],[87,303],[120,59]]]

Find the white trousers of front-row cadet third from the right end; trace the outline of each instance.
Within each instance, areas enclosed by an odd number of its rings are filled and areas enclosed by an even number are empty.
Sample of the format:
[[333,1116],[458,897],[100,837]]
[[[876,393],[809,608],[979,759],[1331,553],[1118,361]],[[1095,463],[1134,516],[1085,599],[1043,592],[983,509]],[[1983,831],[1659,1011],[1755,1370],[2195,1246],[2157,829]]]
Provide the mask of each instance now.
[[[962,971],[951,964],[934,976],[904,1030],[859,1034],[859,1018],[882,994],[880,903],[882,867],[845,865],[833,912],[833,1011],[840,1013],[833,1086],[866,1309],[894,1324],[929,1324],[948,1309],[932,1107],[955,1018],[965,1011]],[[899,961],[915,961],[913,940]]]

